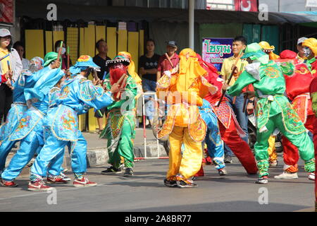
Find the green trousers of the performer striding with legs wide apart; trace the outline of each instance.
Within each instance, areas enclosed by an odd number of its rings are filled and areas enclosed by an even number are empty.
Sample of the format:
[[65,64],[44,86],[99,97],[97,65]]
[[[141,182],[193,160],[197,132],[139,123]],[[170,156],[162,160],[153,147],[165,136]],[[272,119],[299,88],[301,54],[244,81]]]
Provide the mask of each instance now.
[[266,128],[268,131],[262,133],[257,129],[256,143],[254,145],[254,152],[257,162],[257,167],[259,169],[259,177],[268,175],[268,138],[271,136],[273,131],[277,128],[280,132],[290,140],[299,150],[299,156],[305,162],[305,171],[314,172],[315,171],[315,158],[314,158],[314,148],[313,141],[309,138],[309,135],[304,131],[303,133],[294,134],[290,133],[285,129],[282,114],[276,114],[268,119]]

